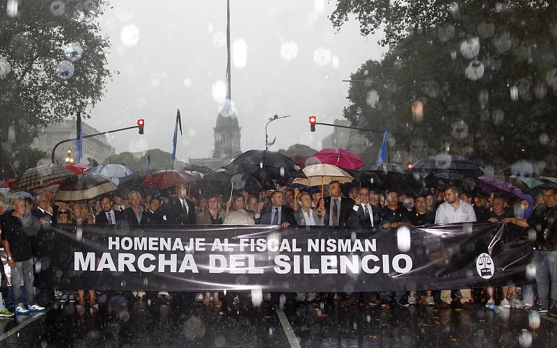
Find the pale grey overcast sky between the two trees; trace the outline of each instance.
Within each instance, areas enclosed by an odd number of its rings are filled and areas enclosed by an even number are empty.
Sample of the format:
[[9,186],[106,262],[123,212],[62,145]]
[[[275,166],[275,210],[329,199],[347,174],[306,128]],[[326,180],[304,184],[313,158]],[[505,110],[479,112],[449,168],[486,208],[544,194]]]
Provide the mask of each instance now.
[[[160,148],[171,152],[176,109],[183,136],[178,159],[210,157],[219,102],[226,96],[226,0],[113,1],[100,17],[111,41],[107,93],[88,122],[100,130],[146,122],[145,134],[111,136],[116,152]],[[308,116],[319,122],[342,118],[350,73],[386,52],[377,37],[364,38],[354,19],[336,32],[327,18],[334,3],[233,0],[232,100],[242,127],[242,151],[265,148],[265,123],[274,114],[292,115],[269,124],[271,150],[294,143],[318,150],[331,127],[309,132]],[[242,48],[244,47],[244,48]]]

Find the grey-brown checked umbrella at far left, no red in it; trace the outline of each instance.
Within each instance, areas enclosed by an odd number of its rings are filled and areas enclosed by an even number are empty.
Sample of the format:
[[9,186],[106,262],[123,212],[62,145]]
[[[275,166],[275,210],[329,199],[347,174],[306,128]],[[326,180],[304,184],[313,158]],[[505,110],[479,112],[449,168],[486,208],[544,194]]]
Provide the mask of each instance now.
[[51,184],[58,184],[61,180],[73,175],[72,171],[59,164],[45,164],[27,169],[21,176],[16,177],[10,192],[33,191]]

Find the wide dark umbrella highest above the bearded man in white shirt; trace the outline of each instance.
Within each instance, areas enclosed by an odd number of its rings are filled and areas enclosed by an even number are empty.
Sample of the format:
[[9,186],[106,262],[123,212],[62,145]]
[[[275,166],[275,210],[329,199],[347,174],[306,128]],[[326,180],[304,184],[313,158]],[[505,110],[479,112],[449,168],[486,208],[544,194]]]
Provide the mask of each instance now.
[[455,171],[464,177],[478,177],[485,175],[482,168],[473,164],[472,161],[462,156],[440,154],[437,156],[423,157],[412,166],[416,173],[439,173],[444,171]]

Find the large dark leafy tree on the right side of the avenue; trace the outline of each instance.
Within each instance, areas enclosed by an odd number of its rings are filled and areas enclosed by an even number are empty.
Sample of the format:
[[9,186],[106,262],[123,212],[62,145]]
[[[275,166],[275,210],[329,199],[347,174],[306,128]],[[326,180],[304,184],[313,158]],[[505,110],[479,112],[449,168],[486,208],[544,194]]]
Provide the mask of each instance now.
[[345,117],[388,122],[402,162],[449,145],[483,166],[554,166],[555,10],[531,3],[498,11],[460,1],[457,16],[438,16],[443,24],[423,19],[414,24],[425,29],[391,36],[381,62],[352,74],[373,82],[352,83]]

